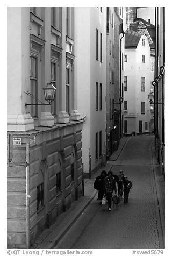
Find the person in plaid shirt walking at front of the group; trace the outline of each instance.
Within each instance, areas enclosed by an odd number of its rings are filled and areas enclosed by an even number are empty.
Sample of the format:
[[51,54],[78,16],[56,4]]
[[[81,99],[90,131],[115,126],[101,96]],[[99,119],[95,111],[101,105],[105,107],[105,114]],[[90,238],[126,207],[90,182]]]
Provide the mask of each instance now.
[[115,194],[117,195],[117,188],[116,188],[116,183],[114,180],[114,177],[112,176],[112,171],[109,170],[107,173],[107,176],[104,179],[104,193],[107,199],[108,203],[108,210],[111,211],[111,205],[112,205],[112,193],[113,190]]

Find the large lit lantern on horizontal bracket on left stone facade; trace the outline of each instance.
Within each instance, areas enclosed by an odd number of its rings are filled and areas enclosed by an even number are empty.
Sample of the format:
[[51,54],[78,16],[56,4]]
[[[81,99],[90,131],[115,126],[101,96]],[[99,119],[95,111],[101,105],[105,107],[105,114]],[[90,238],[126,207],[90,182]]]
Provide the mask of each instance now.
[[46,106],[51,105],[51,102],[54,101],[54,95],[55,95],[55,86],[53,86],[52,83],[47,83],[46,87],[43,88],[44,90],[44,97],[45,100],[48,102],[48,104],[45,103],[35,103],[35,104],[25,104],[25,106]]

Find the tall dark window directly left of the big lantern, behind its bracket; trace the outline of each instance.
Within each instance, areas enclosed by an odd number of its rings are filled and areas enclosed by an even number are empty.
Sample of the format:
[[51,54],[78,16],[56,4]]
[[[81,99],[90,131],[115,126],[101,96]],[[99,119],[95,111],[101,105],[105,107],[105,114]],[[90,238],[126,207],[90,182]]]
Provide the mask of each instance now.
[[[30,86],[32,104],[38,104],[37,58],[30,56]],[[32,117],[38,117],[38,105],[31,106]]]

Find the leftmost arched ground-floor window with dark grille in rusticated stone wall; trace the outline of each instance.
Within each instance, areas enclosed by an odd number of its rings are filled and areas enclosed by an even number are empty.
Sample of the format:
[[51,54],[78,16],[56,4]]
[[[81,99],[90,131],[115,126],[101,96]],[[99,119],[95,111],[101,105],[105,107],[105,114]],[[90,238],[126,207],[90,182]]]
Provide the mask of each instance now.
[[44,207],[44,175],[42,170],[38,173],[38,186],[37,186],[37,211]]

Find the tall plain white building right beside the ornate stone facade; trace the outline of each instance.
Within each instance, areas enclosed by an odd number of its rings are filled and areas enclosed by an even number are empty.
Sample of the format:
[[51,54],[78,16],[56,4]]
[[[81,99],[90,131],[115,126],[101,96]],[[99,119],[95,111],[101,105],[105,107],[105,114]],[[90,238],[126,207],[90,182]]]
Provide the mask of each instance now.
[[77,8],[78,111],[82,131],[84,173],[90,176],[105,154],[106,8]]

